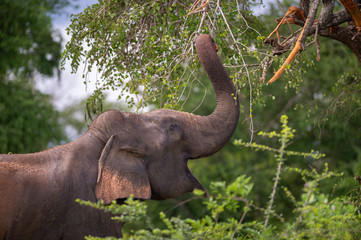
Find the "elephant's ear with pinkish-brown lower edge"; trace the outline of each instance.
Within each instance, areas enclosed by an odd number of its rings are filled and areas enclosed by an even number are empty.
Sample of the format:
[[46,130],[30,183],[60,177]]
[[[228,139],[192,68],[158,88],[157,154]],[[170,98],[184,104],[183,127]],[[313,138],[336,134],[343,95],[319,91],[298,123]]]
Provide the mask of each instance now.
[[100,156],[95,195],[105,204],[130,195],[139,199],[151,197],[142,153],[124,145],[117,135],[110,138]]

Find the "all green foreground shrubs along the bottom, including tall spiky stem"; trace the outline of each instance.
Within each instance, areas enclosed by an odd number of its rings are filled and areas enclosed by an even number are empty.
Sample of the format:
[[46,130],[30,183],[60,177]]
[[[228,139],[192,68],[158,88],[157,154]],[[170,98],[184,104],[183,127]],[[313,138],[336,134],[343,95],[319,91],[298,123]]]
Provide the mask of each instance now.
[[[109,206],[78,201],[81,204],[116,214],[117,216],[113,219],[117,221],[143,222],[141,228],[126,233],[123,239],[360,239],[361,215],[355,201],[347,196],[331,199],[319,190],[320,182],[331,177],[339,177],[341,173],[330,171],[327,163],[324,164],[322,171],[314,168],[309,170],[284,167],[286,157],[320,159],[324,156],[317,151],[305,153],[286,150],[294,133],[295,130],[288,126],[287,116],[282,116],[280,132],[259,133],[268,138],[277,137],[280,142],[278,149],[257,143],[247,144],[242,140],[235,141],[238,146],[276,153],[277,169],[269,201],[265,207],[256,206],[249,200],[253,183],[250,177],[244,175],[237,177],[230,184],[211,183],[209,197],[203,202],[207,213],[200,219],[169,218],[165,213],[160,212],[159,217],[163,227],[154,227],[146,214],[146,202],[134,201],[133,198],[129,198],[123,205],[113,202]],[[282,188],[283,193],[294,205],[290,211],[293,211],[295,215],[288,221],[285,221],[274,210],[277,205],[276,191],[280,188],[283,172],[297,174],[304,182],[303,194],[300,198],[296,198],[288,188]],[[204,196],[201,190],[195,190],[193,193],[199,198]],[[264,213],[264,217],[253,220],[247,218],[249,213],[256,211]],[[270,218],[274,216],[281,219],[282,225],[274,225],[270,221]],[[100,238],[87,237],[86,239]]]

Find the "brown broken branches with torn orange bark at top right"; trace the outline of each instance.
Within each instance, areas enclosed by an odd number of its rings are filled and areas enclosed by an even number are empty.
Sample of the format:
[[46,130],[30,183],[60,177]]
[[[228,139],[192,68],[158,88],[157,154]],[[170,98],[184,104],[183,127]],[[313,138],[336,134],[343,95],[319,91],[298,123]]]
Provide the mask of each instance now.
[[[358,61],[361,63],[361,0],[340,0],[346,9],[334,13],[335,0],[322,0],[321,11],[318,20],[314,21],[302,21],[293,15],[292,21],[289,23],[297,24],[302,26],[300,34],[289,36],[285,41],[279,43],[279,37],[277,39],[270,39],[273,33],[278,33],[278,28],[287,18],[284,16],[280,21],[277,28],[272,34],[266,39],[265,43],[270,44],[274,47],[273,55],[281,55],[295,44],[290,56],[287,58],[281,69],[275,74],[275,76],[269,81],[269,83],[275,81],[285,70],[285,66],[289,64],[293,57],[300,50],[305,49],[306,38],[310,35],[315,34],[315,44],[317,44],[317,34],[323,37],[327,37],[333,40],[337,40],[349,47],[349,49],[355,54]],[[311,4],[311,7],[310,7]],[[317,5],[317,6],[316,6]],[[302,11],[307,19],[315,19],[318,1],[300,0],[299,10]],[[295,7],[293,7],[295,8]],[[291,8],[290,8],[291,9]],[[290,11],[290,10],[289,10]],[[287,13],[289,13],[289,11]],[[348,23],[347,27],[341,26],[343,23]],[[317,29],[317,30],[316,30]]]

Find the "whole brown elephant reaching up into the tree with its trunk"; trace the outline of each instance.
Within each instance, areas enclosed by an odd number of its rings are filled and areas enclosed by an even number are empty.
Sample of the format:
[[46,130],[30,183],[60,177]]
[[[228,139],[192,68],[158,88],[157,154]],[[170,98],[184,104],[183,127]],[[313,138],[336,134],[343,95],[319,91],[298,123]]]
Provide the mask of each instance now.
[[75,200],[104,201],[133,195],[174,198],[203,186],[188,160],[219,151],[239,118],[236,88],[211,36],[196,39],[198,58],[216,95],[207,116],[153,110],[101,113],[78,139],[29,154],[0,155],[0,239],[122,237],[122,224]]

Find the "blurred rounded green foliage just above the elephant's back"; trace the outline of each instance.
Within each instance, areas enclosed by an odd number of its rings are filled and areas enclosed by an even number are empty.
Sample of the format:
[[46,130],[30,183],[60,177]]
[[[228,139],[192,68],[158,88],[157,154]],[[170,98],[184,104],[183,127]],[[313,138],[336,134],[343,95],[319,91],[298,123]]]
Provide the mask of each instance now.
[[50,97],[26,81],[0,80],[0,152],[29,153],[66,137]]

